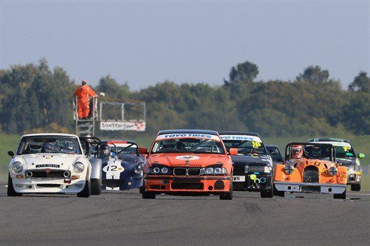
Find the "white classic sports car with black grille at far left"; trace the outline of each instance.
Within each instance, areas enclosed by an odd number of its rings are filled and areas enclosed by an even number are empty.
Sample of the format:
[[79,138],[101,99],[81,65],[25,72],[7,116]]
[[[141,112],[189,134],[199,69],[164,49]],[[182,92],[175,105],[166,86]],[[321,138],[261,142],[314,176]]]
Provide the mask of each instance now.
[[73,134],[42,133],[22,137],[9,151],[8,196],[24,193],[101,194],[101,162],[91,163]]

